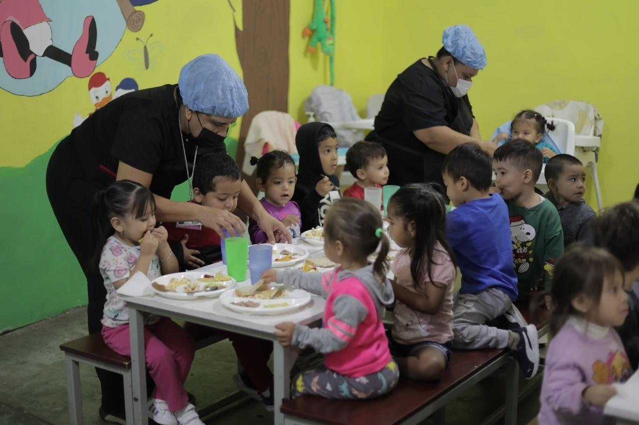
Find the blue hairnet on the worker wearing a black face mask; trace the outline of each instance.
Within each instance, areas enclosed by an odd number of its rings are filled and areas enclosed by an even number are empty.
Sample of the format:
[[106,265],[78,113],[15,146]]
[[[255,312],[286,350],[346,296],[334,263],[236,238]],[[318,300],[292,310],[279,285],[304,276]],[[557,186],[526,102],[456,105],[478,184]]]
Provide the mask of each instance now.
[[180,95],[190,110],[235,118],[249,110],[249,94],[239,75],[215,54],[198,56],[180,71]]

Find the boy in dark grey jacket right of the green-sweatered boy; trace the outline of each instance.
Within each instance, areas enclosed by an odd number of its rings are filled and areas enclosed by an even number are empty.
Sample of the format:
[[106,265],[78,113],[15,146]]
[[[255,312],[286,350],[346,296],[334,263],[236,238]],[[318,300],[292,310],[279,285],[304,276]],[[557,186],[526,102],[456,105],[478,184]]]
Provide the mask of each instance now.
[[558,154],[546,164],[546,182],[550,189],[544,196],[557,208],[564,230],[564,248],[588,239],[588,227],[596,214],[583,200],[586,172],[580,160]]

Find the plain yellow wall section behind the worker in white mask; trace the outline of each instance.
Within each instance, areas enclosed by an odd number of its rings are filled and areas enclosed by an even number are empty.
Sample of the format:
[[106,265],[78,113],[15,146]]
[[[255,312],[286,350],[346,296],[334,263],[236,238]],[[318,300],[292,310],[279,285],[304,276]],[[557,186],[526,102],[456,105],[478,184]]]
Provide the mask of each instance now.
[[[435,55],[445,27],[468,24],[488,55],[469,94],[482,136],[523,108],[589,101],[605,120],[599,181],[610,206],[629,200],[639,182],[638,11],[631,0],[385,0],[382,80],[387,86],[419,57]],[[587,191],[596,207],[592,183]]]

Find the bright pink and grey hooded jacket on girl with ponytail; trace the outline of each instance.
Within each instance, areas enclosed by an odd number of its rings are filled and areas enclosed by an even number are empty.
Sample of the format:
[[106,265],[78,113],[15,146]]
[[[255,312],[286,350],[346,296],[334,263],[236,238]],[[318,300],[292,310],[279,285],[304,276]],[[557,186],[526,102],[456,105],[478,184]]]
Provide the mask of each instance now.
[[323,326],[296,324],[293,345],[318,350],[328,369],[353,378],[378,372],[392,360],[381,320],[394,295],[389,280],[374,275],[373,265],[357,271],[339,266],[322,274],[284,270],[277,281],[327,300]]

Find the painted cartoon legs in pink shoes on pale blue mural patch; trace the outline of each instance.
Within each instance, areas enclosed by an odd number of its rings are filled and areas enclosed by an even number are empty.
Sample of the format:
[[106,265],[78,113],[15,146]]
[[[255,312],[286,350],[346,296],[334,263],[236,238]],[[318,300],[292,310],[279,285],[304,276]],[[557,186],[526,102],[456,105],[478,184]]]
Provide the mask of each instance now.
[[153,1],[0,0],[0,87],[38,96],[67,77],[89,77],[111,56],[127,23],[141,29],[144,13],[133,6]]

